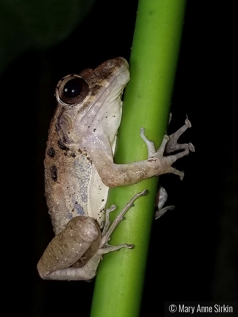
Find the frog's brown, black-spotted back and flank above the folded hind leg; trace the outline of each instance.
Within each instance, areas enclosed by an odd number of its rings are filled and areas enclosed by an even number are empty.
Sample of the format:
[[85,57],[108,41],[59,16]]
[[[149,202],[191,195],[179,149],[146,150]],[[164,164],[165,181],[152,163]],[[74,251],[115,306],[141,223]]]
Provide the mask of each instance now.
[[88,153],[60,139],[52,119],[45,153],[45,196],[55,233],[78,215],[88,215]]

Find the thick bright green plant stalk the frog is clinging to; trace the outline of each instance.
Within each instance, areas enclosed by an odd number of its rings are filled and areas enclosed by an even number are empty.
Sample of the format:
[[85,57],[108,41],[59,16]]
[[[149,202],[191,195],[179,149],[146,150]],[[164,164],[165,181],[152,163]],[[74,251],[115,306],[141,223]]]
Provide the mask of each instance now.
[[[165,134],[185,4],[185,0],[139,1],[130,57],[131,79],[125,91],[114,160],[117,164],[147,158],[147,148],[139,134],[142,126],[156,148]],[[91,317],[139,315],[157,184],[158,178],[154,177],[109,192],[107,206],[117,205],[115,217],[136,192],[149,190],[147,196],[137,199],[112,235],[110,244],[133,243],[135,247],[103,256]]]

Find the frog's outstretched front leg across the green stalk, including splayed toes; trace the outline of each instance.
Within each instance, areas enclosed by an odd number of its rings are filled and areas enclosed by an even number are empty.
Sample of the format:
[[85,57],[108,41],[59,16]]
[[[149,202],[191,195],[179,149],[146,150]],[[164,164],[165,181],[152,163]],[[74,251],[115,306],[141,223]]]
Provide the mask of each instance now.
[[[110,157],[108,155],[109,151],[107,149],[103,150],[102,148],[91,148],[89,150],[90,156],[102,182],[108,187],[136,184],[142,179],[165,173],[177,174],[182,179],[184,173],[178,171],[171,165],[177,159],[188,155],[190,151],[194,152],[194,146],[191,143],[177,143],[178,137],[190,126],[190,122],[186,119],[185,125],[176,133],[171,136],[164,135],[162,144],[157,151],[155,151],[154,143],[145,137],[144,129],[142,128],[140,135],[147,145],[147,160],[129,164],[115,164],[113,163],[112,156]],[[169,144],[169,146],[167,146],[167,144]],[[167,147],[169,152],[175,150],[182,150],[182,152],[164,156]]]

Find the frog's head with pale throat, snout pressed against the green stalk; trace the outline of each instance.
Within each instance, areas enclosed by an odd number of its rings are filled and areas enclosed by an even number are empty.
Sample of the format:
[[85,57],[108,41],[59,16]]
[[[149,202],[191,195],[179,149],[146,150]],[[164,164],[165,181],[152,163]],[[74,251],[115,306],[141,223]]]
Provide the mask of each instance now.
[[121,96],[128,81],[129,65],[122,57],[59,81],[56,129],[65,143],[105,134],[111,143],[120,125]]

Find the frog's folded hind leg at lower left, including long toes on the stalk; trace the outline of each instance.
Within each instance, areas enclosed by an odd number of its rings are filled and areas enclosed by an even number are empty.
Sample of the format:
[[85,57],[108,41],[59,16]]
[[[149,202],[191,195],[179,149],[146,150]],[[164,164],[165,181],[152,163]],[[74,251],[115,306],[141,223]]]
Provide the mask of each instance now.
[[[116,205],[107,209],[102,235],[92,218],[84,216],[72,218],[65,229],[50,242],[40,259],[37,265],[40,276],[50,280],[90,280],[96,275],[96,269],[103,254],[124,247],[133,248],[133,244],[127,243],[111,246],[108,241],[117,225],[123,220],[125,213],[133,206],[134,201],[146,194],[146,190],[137,193],[111,225],[109,213],[116,209]],[[69,267],[71,265],[72,267]]]

